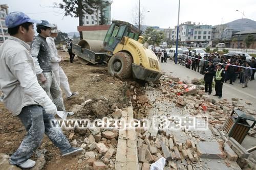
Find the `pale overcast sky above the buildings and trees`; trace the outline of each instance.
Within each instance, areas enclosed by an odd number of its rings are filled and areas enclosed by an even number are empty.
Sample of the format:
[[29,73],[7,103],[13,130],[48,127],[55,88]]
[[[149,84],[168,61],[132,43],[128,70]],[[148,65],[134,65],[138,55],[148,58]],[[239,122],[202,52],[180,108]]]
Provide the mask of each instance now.
[[[56,23],[61,32],[76,32],[78,18],[63,17],[63,10],[48,8],[61,0],[0,0],[0,4],[8,4],[9,12],[22,11],[31,18],[44,19]],[[236,19],[256,20],[255,0],[180,0],[180,23],[191,21],[207,25],[219,25]],[[111,5],[112,19],[134,23],[133,13],[138,10],[139,0],[113,0]],[[144,13],[143,25],[174,28],[178,22],[179,0],[141,0]],[[136,8],[137,7],[137,8]],[[239,10],[242,13],[236,11]]]

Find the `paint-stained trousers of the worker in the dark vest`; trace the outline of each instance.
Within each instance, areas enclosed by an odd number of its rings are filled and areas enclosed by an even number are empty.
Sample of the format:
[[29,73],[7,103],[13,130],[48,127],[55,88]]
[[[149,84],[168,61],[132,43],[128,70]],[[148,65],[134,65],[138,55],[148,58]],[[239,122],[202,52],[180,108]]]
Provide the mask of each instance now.
[[58,111],[66,111],[63,104],[62,92],[52,71],[42,72],[46,78],[45,83],[39,81],[40,86],[46,91],[52,99]]

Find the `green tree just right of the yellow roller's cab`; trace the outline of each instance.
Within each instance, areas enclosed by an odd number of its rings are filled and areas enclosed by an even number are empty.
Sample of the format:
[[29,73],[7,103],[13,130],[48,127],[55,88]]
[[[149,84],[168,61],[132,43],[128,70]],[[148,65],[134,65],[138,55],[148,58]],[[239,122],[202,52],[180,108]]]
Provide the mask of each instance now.
[[164,39],[163,31],[157,31],[153,27],[148,27],[144,32],[144,41],[151,37],[149,41],[150,44],[157,44],[159,45],[160,42]]

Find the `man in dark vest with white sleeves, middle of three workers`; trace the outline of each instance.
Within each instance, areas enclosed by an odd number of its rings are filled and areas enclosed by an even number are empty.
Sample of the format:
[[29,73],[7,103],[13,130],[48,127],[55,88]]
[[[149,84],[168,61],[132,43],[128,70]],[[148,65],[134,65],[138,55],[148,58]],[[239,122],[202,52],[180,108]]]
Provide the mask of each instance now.
[[[58,111],[66,111],[62,99],[62,91],[50,65],[54,55],[46,41],[46,38],[50,37],[51,28],[55,26],[51,25],[47,20],[41,21],[41,23],[37,23],[36,25],[38,35],[34,37],[31,44],[31,55],[35,63],[35,72],[40,86],[52,98]],[[68,112],[68,115],[73,114],[73,112]]]

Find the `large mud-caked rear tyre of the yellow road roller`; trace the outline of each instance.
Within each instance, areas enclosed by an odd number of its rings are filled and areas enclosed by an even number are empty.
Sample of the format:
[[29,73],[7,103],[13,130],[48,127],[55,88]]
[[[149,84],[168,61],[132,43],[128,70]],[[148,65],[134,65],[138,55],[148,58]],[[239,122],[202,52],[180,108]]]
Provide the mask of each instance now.
[[108,63],[108,71],[114,76],[117,75],[122,79],[127,79],[132,76],[132,57],[125,52],[114,54]]

